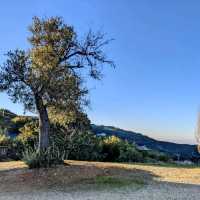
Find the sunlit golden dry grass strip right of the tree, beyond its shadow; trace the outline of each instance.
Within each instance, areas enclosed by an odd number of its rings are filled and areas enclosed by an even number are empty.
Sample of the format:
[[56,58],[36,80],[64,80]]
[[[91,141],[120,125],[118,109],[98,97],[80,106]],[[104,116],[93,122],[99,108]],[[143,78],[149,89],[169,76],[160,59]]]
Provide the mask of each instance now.
[[153,180],[166,181],[173,183],[187,183],[200,185],[200,167],[186,166],[159,166],[145,164],[121,164],[104,162],[85,162],[85,161],[67,161],[71,165],[95,166],[102,169],[121,169],[129,174],[137,172],[144,175],[144,178],[151,176]]

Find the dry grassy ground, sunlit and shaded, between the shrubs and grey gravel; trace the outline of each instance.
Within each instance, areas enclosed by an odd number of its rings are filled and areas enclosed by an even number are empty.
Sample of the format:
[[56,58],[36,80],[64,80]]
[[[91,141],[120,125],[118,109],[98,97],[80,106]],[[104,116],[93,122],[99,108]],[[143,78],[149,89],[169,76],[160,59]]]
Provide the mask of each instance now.
[[[29,170],[20,161],[0,163],[0,191],[41,188],[81,188],[83,185],[125,186],[130,183],[171,182],[200,185],[200,168],[163,167],[141,164],[66,161],[66,166]],[[101,178],[99,178],[101,177]],[[111,178],[109,178],[111,177]],[[115,180],[115,181],[114,181]],[[118,184],[114,184],[118,182]],[[112,184],[113,183],[113,184]]]

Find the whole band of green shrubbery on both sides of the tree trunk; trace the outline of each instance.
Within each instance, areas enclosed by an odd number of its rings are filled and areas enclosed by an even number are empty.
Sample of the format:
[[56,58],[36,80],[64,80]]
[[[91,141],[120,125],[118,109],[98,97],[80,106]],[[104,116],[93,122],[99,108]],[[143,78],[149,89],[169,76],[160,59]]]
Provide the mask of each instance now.
[[[170,157],[166,154],[138,150],[134,144],[115,136],[97,137],[89,131],[89,120],[84,114],[70,112],[64,118],[62,115],[64,113],[60,114],[59,120],[63,119],[63,123],[59,123],[58,118],[51,116],[50,148],[53,148],[54,151],[56,149],[57,154],[62,155],[63,160],[146,163],[170,161]],[[47,160],[46,166],[49,166],[50,159],[48,157],[56,157],[55,152],[48,150],[48,153],[42,151],[38,153],[32,150],[38,146],[38,120],[33,117],[15,116],[12,118],[12,123],[18,128],[19,135],[15,139],[0,135],[0,145],[9,146],[9,157],[24,158],[31,167],[45,167],[45,164],[42,163]]]

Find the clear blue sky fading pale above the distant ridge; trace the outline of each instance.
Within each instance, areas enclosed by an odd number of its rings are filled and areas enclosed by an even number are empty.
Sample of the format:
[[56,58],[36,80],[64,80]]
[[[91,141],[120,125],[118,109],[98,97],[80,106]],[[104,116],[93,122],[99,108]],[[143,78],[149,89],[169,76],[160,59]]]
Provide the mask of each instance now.
[[[82,35],[89,28],[115,38],[107,49],[117,68],[90,82],[93,123],[194,143],[200,105],[200,1],[20,0],[0,7],[0,63],[26,48],[34,15],[63,16]],[[5,94],[0,107],[22,113]]]

